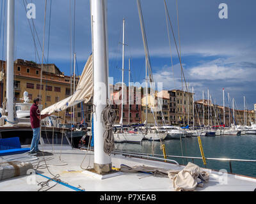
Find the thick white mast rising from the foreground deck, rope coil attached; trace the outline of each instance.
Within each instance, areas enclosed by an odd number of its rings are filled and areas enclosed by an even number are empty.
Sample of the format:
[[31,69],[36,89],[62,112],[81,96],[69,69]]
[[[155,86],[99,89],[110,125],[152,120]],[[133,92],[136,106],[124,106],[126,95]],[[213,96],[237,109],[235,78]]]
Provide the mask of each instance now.
[[[111,171],[111,156],[104,152],[103,128],[100,115],[108,99],[108,29],[107,1],[90,1],[92,12],[92,51],[93,51],[93,133],[94,164],[97,173]],[[108,94],[106,94],[108,93]]]

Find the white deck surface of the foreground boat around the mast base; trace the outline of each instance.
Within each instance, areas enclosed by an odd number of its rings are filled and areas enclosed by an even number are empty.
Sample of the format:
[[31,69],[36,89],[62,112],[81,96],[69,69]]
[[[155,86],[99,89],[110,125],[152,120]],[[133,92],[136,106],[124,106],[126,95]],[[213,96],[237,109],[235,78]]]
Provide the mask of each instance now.
[[[45,152],[52,152],[51,147],[45,149]],[[62,182],[72,187],[84,189],[84,191],[174,191],[172,180],[169,178],[154,177],[145,173],[118,172],[115,173],[115,176],[107,179],[100,179],[90,175],[90,173],[84,173],[84,170],[81,168],[84,156],[86,155],[83,168],[92,168],[93,154],[94,152],[91,151],[63,147],[62,150],[54,150],[53,155],[45,156],[45,159],[47,160],[49,171],[53,175],[59,174],[60,177],[58,179],[61,179]],[[121,155],[112,156],[111,159],[112,166],[116,168],[120,168],[120,164],[126,164],[131,167],[144,164],[166,170],[182,170],[184,168],[184,166],[177,166],[176,164]],[[36,161],[41,161],[40,164],[45,164],[44,157],[38,157]],[[33,164],[35,163],[33,161]],[[90,166],[88,167],[89,164]],[[204,187],[196,187],[196,191],[253,191],[256,188],[256,179],[204,170],[211,173],[209,182],[205,183]],[[28,175],[3,180],[0,182],[0,191],[38,191],[41,188],[38,186],[39,182],[47,181],[46,177],[53,177],[49,171],[47,168],[36,170],[41,175],[35,175],[34,184],[33,177]],[[28,184],[28,181],[32,184]],[[49,189],[51,186],[54,187]],[[74,191],[74,189],[62,184],[56,184],[54,181],[49,182],[49,186],[41,190],[44,191],[46,189],[49,189],[49,191]]]

